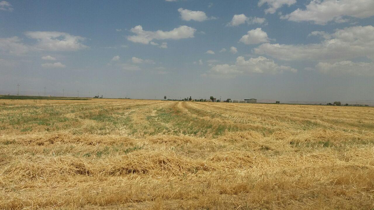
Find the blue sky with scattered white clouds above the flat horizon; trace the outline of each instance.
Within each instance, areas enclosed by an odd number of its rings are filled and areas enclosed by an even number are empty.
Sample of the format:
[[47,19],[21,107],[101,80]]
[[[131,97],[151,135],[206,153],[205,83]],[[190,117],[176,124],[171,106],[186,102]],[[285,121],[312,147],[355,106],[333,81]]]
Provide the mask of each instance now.
[[[373,0],[0,0],[0,94],[374,99]],[[45,87],[45,88],[44,88]]]

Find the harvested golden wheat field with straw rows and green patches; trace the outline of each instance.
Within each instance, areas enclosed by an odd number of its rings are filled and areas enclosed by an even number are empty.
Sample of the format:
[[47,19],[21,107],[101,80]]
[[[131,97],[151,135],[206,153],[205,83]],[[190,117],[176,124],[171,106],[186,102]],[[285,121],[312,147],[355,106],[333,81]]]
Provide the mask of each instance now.
[[373,209],[374,109],[0,100],[0,209]]

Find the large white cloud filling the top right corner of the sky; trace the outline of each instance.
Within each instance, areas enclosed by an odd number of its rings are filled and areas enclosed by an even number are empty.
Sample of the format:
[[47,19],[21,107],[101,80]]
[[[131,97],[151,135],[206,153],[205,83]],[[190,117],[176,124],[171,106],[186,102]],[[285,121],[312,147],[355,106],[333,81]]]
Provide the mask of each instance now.
[[373,15],[373,0],[312,0],[305,10],[299,8],[281,18],[324,25],[329,21],[345,22],[347,20],[343,19],[344,16],[368,18]]

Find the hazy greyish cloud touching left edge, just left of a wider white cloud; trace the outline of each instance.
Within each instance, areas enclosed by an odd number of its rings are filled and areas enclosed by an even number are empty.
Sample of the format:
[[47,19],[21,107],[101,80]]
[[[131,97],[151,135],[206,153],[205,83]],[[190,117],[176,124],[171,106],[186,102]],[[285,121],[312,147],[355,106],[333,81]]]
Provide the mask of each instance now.
[[19,37],[0,38],[0,52],[21,55],[30,50],[30,47],[21,42]]

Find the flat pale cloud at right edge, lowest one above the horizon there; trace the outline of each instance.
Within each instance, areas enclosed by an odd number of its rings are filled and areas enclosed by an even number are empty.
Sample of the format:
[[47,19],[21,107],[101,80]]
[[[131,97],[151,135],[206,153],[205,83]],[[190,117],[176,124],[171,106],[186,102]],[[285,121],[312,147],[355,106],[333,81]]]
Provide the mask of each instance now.
[[335,63],[319,62],[316,69],[330,75],[374,76],[374,63],[341,61]]

